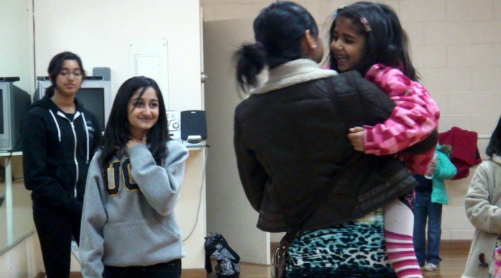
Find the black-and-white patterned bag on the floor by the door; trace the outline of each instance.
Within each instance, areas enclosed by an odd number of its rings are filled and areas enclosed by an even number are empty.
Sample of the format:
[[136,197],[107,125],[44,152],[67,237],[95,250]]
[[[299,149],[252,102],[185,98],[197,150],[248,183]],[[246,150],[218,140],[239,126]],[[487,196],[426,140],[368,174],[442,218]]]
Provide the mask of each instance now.
[[221,234],[210,234],[205,238],[205,270],[212,273],[210,258],[217,260],[216,276],[218,278],[240,277],[240,257],[231,249]]

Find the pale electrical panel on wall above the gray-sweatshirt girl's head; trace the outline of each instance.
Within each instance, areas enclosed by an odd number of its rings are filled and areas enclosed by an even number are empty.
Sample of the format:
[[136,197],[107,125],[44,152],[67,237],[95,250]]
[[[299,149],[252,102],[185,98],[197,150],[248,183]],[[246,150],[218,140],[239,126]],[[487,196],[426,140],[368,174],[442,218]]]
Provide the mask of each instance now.
[[129,73],[131,76],[146,76],[157,82],[164,96],[166,108],[168,99],[167,40],[130,40]]

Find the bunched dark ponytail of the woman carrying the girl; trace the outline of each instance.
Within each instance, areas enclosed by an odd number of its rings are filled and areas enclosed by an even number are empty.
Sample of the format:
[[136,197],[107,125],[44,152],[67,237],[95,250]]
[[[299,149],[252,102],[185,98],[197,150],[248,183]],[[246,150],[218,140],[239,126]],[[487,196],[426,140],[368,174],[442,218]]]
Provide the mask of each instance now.
[[235,54],[237,60],[237,81],[240,88],[256,87],[257,75],[267,65],[267,52],[260,43],[244,44]]

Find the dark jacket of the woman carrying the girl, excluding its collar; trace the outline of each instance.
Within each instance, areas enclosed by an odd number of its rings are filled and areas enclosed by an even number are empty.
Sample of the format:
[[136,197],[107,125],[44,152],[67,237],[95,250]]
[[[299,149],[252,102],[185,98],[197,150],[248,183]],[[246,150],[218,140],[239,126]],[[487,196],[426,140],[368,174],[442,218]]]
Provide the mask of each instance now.
[[[349,101],[360,109],[347,111]],[[417,183],[397,158],[356,152],[347,138],[350,127],[382,122],[394,106],[357,72],[285,84],[242,101],[234,149],[246,196],[260,213],[257,227],[330,227],[412,190]]]

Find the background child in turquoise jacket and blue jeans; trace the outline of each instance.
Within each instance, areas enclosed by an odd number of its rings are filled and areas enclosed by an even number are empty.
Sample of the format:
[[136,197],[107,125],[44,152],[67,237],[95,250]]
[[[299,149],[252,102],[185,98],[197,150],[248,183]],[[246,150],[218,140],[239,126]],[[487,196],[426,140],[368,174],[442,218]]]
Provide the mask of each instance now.
[[[452,179],[457,172],[456,166],[450,161],[451,152],[450,145],[438,145],[435,150],[436,163],[432,163],[431,179],[423,175],[414,176],[419,183],[415,188],[414,248],[417,262],[424,265],[422,268],[424,271],[438,270],[438,265],[442,261],[440,259],[442,205],[449,204],[444,179]],[[425,229],[427,222],[428,233]]]

